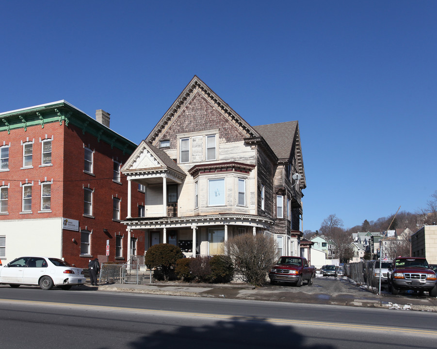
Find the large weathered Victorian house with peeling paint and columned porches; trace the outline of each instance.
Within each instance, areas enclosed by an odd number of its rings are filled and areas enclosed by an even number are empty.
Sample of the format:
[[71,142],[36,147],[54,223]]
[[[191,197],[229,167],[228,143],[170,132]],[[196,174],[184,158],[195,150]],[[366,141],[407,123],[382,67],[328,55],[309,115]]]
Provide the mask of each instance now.
[[[123,223],[145,250],[170,243],[190,257],[221,254],[228,238],[250,233],[274,236],[278,255],[302,253],[297,121],[250,126],[194,76],[121,171],[129,195]],[[138,211],[130,206],[137,190]]]

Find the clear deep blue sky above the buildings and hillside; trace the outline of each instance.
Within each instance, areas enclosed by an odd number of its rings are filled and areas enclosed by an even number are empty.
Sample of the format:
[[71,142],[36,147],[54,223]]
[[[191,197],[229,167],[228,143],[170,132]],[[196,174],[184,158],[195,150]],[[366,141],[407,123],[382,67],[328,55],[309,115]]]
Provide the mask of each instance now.
[[65,99],[141,142],[197,75],[250,125],[298,120],[302,230],[437,190],[437,1],[2,1],[0,112]]

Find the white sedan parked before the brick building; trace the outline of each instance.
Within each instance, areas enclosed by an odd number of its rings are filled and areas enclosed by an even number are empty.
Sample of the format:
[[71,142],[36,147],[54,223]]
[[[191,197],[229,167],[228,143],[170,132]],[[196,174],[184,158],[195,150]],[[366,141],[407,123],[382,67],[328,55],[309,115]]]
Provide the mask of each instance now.
[[83,285],[83,269],[75,268],[59,258],[19,257],[0,267],[0,284],[11,287],[39,285],[48,290],[53,286],[70,289]]

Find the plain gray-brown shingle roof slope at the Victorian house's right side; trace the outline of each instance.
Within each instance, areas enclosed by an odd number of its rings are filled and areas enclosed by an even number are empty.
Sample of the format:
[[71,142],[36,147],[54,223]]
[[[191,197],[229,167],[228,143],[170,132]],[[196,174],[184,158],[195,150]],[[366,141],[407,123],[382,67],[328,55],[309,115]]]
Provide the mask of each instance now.
[[272,148],[278,159],[288,159],[293,147],[297,121],[253,126]]

